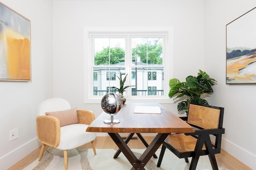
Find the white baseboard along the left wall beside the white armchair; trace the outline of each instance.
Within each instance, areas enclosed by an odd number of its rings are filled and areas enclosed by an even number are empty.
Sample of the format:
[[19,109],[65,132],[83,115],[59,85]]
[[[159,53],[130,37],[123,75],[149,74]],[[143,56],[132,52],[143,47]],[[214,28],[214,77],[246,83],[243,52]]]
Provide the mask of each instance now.
[[37,137],[0,158],[0,170],[7,170],[42,145]]

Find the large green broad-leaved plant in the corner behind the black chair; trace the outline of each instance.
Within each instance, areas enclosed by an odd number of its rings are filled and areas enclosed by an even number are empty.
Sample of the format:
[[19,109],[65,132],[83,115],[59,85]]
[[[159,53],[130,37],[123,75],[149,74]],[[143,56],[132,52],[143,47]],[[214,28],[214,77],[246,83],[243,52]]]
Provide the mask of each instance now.
[[187,76],[186,82],[180,82],[177,78],[172,78],[169,80],[169,97],[172,98],[176,96],[175,99],[185,97],[185,101],[178,103],[178,111],[185,110],[186,114],[188,114],[188,104],[189,102],[195,102],[200,104],[208,104],[205,99],[201,98],[202,94],[212,94],[213,89],[212,86],[217,82],[213,78],[199,70],[197,76]]

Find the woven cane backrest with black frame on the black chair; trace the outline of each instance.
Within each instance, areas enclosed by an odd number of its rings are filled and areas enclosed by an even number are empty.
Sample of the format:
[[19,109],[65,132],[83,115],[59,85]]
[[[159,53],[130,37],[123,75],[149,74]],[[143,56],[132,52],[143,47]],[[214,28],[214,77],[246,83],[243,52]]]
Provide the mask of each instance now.
[[187,123],[200,129],[218,129],[222,127],[223,112],[223,107],[191,102],[188,107]]

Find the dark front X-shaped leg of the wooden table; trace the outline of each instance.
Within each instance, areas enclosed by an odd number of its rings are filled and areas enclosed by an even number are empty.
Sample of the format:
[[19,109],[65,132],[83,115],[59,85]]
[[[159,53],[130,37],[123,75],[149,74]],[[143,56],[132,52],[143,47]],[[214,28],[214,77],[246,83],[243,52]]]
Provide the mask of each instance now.
[[[148,163],[150,158],[155,154],[156,150],[160,147],[160,145],[162,145],[166,137],[169,135],[169,133],[158,133],[158,135],[156,135],[156,137],[153,139],[150,145],[148,145],[148,147],[140,156],[140,158],[137,158],[132,152],[132,150],[128,147],[127,145],[128,141],[126,143],[118,133],[108,133],[108,134],[110,135],[112,140],[116,143],[118,148],[123,152],[124,156],[128,159],[130,164],[132,164],[133,167],[131,170],[145,170],[144,168],[145,165]],[[118,156],[119,154],[116,153],[115,156],[116,155]]]

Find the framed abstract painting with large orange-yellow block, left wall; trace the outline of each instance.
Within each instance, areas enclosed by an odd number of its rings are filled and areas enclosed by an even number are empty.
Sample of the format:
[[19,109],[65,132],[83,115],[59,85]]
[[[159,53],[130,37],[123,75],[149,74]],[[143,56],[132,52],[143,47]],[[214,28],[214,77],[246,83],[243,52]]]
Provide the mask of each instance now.
[[0,81],[31,81],[30,20],[0,2]]

